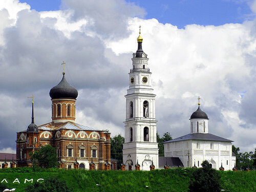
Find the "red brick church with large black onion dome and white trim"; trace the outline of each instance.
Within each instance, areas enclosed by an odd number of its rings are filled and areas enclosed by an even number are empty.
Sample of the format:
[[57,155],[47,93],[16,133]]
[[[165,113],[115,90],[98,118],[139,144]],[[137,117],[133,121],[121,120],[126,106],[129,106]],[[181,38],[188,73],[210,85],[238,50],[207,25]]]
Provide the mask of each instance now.
[[56,148],[62,168],[109,169],[110,133],[75,122],[77,90],[63,77],[50,90],[52,121],[37,126],[34,122],[32,96],[32,122],[28,129],[17,133],[17,167],[31,166],[30,152],[50,144]]

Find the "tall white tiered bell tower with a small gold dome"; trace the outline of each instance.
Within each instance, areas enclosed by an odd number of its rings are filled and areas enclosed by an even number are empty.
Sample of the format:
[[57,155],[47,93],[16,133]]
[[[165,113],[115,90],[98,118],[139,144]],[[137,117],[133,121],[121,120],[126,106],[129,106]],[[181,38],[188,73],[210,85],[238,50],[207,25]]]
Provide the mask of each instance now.
[[151,87],[151,72],[147,67],[147,54],[142,50],[142,40],[139,32],[138,50],[133,53],[130,86],[125,95],[123,163],[126,170],[134,170],[136,163],[140,170],[150,170],[152,163],[158,168],[156,95]]

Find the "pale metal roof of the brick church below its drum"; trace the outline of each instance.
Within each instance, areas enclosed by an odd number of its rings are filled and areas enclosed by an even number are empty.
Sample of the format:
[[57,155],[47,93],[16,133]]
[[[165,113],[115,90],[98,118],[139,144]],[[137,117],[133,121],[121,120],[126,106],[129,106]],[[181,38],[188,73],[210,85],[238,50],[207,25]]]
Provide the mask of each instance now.
[[[93,127],[81,125],[81,124],[70,122],[70,121],[64,122],[64,123],[54,123],[54,126],[55,126],[54,130],[68,129],[68,130],[100,131]],[[50,122],[47,124],[40,125],[40,126],[38,126],[38,129],[45,130],[45,131],[51,131],[51,130],[53,130],[53,123]]]

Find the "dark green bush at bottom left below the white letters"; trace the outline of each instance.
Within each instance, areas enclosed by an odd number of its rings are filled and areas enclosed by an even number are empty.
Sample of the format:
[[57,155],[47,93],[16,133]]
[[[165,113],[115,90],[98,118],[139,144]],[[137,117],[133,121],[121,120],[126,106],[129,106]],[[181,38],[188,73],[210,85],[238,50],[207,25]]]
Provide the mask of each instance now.
[[36,182],[29,185],[26,189],[27,192],[72,192],[69,189],[66,181],[60,180],[58,177],[48,177],[44,182]]

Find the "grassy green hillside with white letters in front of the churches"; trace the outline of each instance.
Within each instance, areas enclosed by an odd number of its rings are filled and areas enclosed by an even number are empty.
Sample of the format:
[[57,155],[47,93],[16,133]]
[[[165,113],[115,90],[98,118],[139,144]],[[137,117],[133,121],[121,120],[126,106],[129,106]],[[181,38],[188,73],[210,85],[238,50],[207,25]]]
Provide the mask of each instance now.
[[[57,176],[67,182],[74,191],[188,191],[190,178],[195,170],[172,168],[150,172],[120,170],[81,170],[81,169],[0,169],[0,182],[7,180],[9,188],[25,191],[37,179]],[[222,188],[229,191],[256,191],[256,171],[219,172]],[[26,183],[25,183],[25,179]],[[18,181],[19,183],[18,183]],[[5,183],[5,181],[3,181]],[[39,181],[40,182],[40,181]],[[96,184],[99,184],[97,186]],[[148,186],[146,188],[146,186]]]

